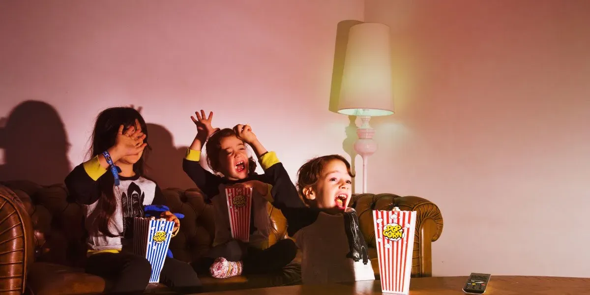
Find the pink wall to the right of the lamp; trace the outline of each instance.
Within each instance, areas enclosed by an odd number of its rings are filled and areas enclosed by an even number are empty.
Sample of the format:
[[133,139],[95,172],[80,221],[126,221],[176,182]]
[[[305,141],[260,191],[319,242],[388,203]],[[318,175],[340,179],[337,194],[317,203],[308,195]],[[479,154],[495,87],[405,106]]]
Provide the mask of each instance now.
[[368,0],[365,21],[391,26],[403,126],[375,124],[369,186],[441,208],[434,275],[590,277],[590,2]]

